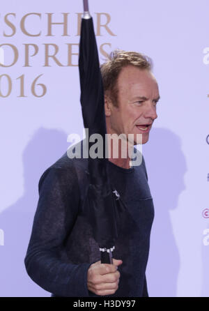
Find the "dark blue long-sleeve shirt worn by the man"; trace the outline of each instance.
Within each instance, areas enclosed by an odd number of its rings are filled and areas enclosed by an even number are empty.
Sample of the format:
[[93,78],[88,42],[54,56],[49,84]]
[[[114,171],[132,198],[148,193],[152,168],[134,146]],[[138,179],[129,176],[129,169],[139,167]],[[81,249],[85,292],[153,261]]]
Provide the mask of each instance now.
[[[122,259],[116,297],[148,296],[146,265],[154,218],[144,157],[130,169],[109,162],[111,183],[127,209],[113,257]],[[24,263],[31,279],[52,296],[98,296],[87,288],[88,268],[100,260],[98,243],[84,217],[88,160],[67,152],[48,167],[38,184],[39,200]]]

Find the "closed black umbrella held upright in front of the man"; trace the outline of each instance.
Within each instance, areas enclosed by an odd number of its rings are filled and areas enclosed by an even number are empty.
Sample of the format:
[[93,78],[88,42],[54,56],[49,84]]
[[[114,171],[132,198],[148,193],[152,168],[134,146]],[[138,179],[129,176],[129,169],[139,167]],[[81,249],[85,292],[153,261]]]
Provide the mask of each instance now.
[[[93,29],[93,19],[88,12],[88,0],[84,0],[81,37],[79,44],[79,77],[84,127],[89,137],[95,133],[102,135],[103,156],[91,158],[88,155],[89,185],[86,192],[84,213],[98,242],[101,262],[112,264],[111,252],[118,236],[117,217],[125,207],[121,197],[109,182],[108,159],[105,158],[106,123],[104,116],[104,91],[100,73],[98,49]],[[94,143],[89,142],[88,151]]]

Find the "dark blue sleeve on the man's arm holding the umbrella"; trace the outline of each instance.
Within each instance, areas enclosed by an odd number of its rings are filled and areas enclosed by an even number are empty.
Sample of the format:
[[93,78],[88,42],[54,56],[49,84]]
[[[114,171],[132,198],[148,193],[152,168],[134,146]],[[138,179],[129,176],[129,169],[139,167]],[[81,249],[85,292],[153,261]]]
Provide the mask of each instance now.
[[75,170],[49,167],[42,174],[39,199],[29,246],[26,271],[40,287],[58,296],[88,296],[87,272],[91,264],[72,264],[64,243],[75,223],[79,187]]

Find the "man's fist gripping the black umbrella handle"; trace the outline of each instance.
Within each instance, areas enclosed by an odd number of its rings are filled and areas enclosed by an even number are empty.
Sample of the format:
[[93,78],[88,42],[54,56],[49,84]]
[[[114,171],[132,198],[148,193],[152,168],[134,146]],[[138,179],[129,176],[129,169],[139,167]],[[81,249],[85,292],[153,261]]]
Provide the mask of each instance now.
[[111,295],[118,289],[120,272],[118,266],[123,264],[120,259],[113,259],[113,264],[101,264],[97,261],[88,268],[87,287],[96,295]]

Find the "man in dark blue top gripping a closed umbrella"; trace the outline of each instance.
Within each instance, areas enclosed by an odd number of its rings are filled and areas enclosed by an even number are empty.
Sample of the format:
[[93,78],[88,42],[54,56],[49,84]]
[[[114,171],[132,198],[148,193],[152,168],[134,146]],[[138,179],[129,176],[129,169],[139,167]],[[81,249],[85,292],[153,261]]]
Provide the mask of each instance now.
[[[148,142],[157,118],[159,91],[150,60],[137,52],[115,51],[101,66],[108,134],[132,134],[128,146]],[[86,139],[80,144],[85,148]],[[120,145],[122,148],[122,145]],[[138,151],[139,152],[139,151]],[[100,263],[100,251],[84,217],[88,159],[66,152],[39,181],[26,271],[52,296],[148,296],[146,264],[154,218],[144,158],[131,166],[130,156],[109,155],[110,181],[127,208],[117,220],[113,264]]]

